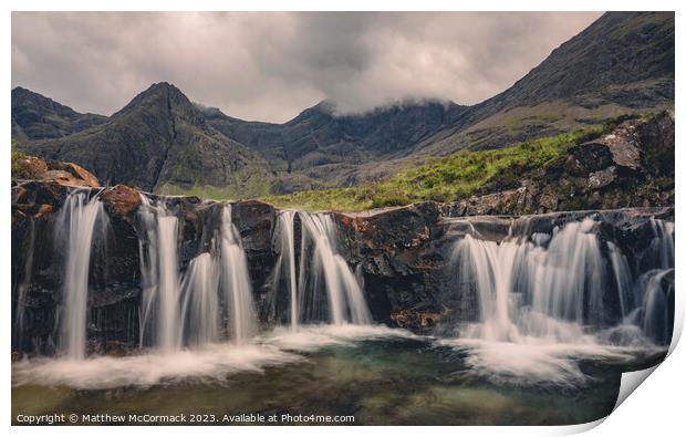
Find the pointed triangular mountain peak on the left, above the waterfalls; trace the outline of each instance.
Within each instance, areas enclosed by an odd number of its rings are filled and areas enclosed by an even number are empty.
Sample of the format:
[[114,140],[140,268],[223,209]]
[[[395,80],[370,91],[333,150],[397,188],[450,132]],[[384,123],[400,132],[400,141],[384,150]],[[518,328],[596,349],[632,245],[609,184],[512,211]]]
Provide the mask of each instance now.
[[218,187],[224,194],[268,190],[269,165],[210,127],[174,85],[157,83],[105,124],[66,137],[20,143],[29,154],[74,162],[105,185],[174,193]]

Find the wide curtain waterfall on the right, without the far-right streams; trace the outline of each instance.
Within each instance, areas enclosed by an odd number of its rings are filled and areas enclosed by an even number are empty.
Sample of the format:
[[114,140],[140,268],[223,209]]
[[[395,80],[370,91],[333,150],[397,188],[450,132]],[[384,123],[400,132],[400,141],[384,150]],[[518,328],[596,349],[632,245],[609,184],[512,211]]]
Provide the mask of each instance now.
[[480,309],[480,323],[470,326],[467,336],[583,340],[584,299],[590,308],[585,319],[602,319],[604,261],[594,225],[568,223],[550,239],[537,235],[533,242],[496,243],[470,235],[458,240],[453,252],[456,274],[475,283]]

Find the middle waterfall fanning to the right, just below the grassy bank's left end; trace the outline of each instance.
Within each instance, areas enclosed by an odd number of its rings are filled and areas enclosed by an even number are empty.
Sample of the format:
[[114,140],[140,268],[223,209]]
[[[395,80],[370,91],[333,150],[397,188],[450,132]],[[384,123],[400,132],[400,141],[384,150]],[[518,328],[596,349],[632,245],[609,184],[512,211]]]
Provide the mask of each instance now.
[[[337,253],[335,225],[331,217],[325,214],[300,212],[300,219],[303,240],[298,287],[302,295],[301,313],[320,318],[319,293],[325,289],[330,323],[371,323],[372,318],[362,289],[345,259]],[[310,250],[305,250],[308,244],[312,246]],[[309,266],[305,267],[305,263]],[[306,298],[305,293],[309,293]]]

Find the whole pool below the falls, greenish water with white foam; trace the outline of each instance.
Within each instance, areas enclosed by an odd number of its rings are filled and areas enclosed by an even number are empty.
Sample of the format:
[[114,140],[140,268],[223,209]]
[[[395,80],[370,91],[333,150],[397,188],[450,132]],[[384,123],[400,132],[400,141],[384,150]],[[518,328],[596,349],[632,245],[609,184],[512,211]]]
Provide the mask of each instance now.
[[521,361],[508,347],[312,327],[175,355],[32,360],[13,365],[12,422],[64,413],[127,423],[129,414],[207,414],[204,423],[219,425],[241,414],[277,415],[277,424],[284,414],[352,416],[356,425],[580,424],[612,410],[622,372],[664,356],[555,345],[520,348]]

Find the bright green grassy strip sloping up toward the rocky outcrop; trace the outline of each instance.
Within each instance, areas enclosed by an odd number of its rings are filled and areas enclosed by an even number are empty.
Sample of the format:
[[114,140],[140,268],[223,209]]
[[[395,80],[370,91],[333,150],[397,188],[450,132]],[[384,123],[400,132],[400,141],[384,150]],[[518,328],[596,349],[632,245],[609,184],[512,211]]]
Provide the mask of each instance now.
[[489,150],[460,150],[397,176],[352,188],[267,196],[277,207],[358,211],[423,200],[454,201],[477,194],[489,181],[516,181],[526,171],[567,154],[582,141],[610,132],[615,123]]

